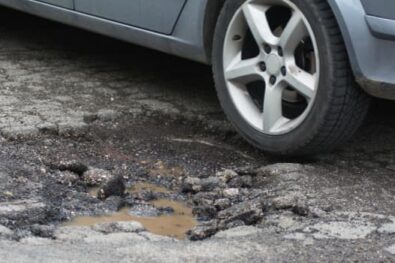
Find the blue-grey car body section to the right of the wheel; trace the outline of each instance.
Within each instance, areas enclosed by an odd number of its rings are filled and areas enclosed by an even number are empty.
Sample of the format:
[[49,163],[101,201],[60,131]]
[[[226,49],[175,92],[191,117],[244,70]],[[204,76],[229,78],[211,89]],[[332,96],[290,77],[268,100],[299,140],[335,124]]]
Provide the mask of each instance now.
[[[389,21],[387,26],[380,23],[375,26],[389,33],[384,37],[372,29],[369,24],[372,16],[366,13],[361,0],[328,1],[340,25],[357,82],[373,96],[395,99],[395,42],[390,36],[395,32],[393,20],[383,19]],[[390,8],[392,0],[381,4]]]

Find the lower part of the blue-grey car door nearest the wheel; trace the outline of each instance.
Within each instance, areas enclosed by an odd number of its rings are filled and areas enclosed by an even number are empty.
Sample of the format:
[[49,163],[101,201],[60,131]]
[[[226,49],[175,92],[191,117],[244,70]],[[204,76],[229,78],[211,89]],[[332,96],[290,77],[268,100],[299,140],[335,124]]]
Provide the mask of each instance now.
[[171,34],[186,0],[74,0],[75,10]]

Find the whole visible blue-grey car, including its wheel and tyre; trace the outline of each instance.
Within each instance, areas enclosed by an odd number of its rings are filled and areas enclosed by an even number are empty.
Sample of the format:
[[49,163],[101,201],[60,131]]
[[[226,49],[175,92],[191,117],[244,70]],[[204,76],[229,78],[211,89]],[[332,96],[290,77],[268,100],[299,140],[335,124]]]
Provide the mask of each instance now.
[[[251,144],[342,144],[370,95],[395,99],[394,0],[0,0],[0,5],[212,65]],[[176,76],[174,76],[176,77]]]

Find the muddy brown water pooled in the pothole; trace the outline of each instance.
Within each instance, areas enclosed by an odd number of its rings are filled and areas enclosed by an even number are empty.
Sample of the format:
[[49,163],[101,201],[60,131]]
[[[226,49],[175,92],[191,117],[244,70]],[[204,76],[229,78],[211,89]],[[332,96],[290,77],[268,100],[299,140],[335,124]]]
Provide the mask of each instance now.
[[[170,193],[170,190],[149,183],[135,184],[127,191],[142,191],[150,190],[158,193]],[[98,188],[89,190],[92,196],[97,195]],[[119,212],[111,215],[101,216],[82,216],[76,217],[71,221],[65,223],[65,226],[91,226],[100,223],[109,223],[117,221],[137,221],[143,224],[146,230],[151,233],[170,236],[177,239],[185,239],[185,233],[197,225],[197,221],[192,214],[192,208],[187,207],[183,202],[158,199],[151,201],[150,204],[156,208],[171,207],[174,212],[168,215],[161,215],[155,217],[135,216],[130,214],[130,208],[124,207]]]

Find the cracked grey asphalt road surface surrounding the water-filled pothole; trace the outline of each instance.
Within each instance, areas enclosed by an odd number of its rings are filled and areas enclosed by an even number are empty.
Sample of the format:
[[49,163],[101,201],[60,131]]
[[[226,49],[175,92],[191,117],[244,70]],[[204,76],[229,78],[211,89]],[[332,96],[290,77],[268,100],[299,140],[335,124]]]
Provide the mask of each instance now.
[[[376,100],[354,139],[333,153],[273,158],[232,130],[208,66],[0,13],[5,262],[395,262],[395,103]],[[60,182],[59,163],[75,160],[163,185],[192,206],[237,190],[237,202],[258,196],[265,208],[253,224],[239,220],[195,242],[133,222],[65,227],[76,215],[119,208],[89,197],[81,182]],[[185,178],[221,178],[224,169],[256,186],[179,193]]]

